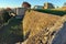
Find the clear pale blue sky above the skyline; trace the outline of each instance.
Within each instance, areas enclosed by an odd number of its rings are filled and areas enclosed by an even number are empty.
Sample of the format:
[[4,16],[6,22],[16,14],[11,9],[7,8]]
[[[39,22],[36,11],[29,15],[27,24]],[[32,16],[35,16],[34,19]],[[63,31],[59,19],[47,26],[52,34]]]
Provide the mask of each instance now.
[[51,2],[54,6],[62,7],[66,0],[0,0],[0,8],[21,7],[22,2],[26,1],[33,6],[44,6],[44,2]]

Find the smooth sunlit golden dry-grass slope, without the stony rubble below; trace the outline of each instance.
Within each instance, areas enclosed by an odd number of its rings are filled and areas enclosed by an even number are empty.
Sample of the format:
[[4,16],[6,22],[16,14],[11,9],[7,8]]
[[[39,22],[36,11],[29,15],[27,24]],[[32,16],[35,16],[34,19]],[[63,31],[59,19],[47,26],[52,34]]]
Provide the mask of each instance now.
[[54,25],[61,16],[41,13],[36,11],[28,12],[23,20],[23,33],[24,35],[33,36],[42,29],[47,29]]

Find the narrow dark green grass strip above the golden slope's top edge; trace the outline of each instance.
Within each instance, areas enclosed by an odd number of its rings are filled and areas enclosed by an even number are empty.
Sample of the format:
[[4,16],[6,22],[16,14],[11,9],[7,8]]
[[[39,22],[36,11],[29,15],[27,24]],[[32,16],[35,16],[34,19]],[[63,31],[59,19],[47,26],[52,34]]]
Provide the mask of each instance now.
[[58,11],[58,10],[41,10],[41,9],[34,9],[34,11],[43,12],[43,13],[50,13],[50,14],[56,14],[56,15],[64,15],[66,14],[66,11]]

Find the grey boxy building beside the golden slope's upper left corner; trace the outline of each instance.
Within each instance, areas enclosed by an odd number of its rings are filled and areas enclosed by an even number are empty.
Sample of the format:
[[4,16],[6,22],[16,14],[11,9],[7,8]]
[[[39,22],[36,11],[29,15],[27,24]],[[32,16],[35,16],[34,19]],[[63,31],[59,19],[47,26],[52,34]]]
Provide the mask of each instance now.
[[15,18],[16,19],[22,19],[25,14],[26,9],[25,8],[16,8],[14,9]]

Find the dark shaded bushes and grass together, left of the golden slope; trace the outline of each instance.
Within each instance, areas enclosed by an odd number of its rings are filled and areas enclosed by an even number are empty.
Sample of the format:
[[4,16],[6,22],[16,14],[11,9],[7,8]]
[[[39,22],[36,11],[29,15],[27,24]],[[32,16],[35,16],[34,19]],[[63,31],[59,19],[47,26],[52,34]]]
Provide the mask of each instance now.
[[14,44],[23,41],[22,20],[9,16],[8,12],[3,10],[0,21],[0,44]]

